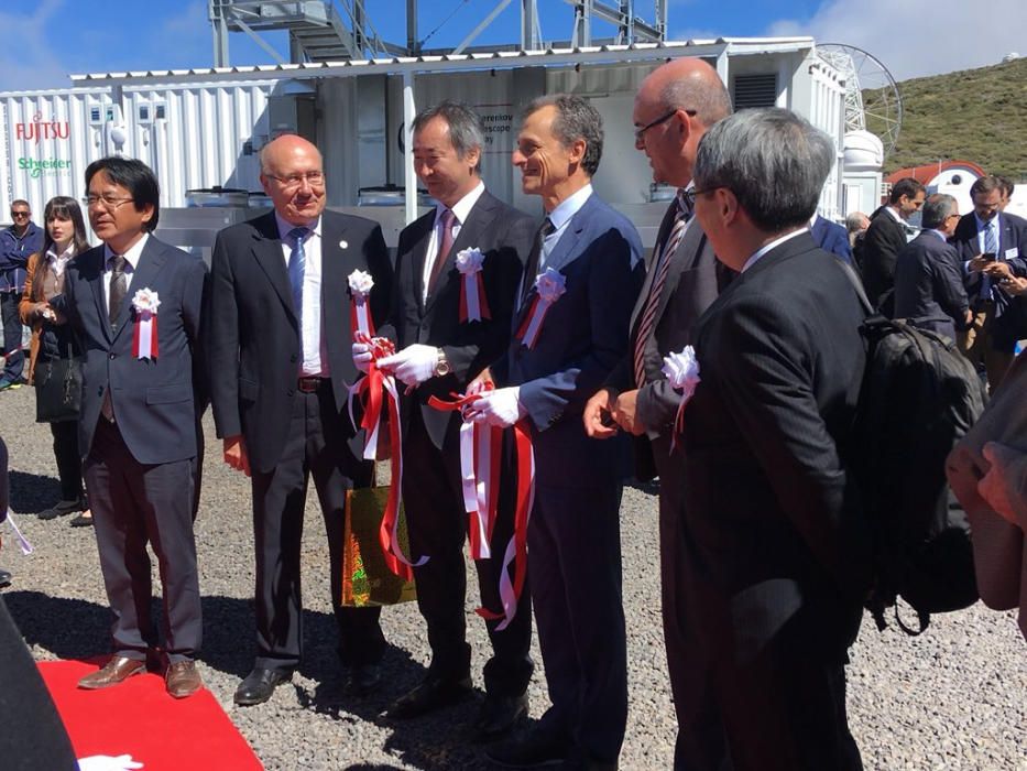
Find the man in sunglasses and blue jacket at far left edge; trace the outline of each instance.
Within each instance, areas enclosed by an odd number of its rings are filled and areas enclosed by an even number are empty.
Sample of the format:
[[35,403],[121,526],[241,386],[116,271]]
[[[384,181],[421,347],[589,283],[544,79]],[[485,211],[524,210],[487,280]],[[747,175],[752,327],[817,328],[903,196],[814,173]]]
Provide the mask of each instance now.
[[13,225],[0,231],[0,314],[3,319],[3,352],[7,361],[0,373],[0,391],[21,388],[25,355],[21,349],[21,319],[18,301],[25,289],[29,256],[43,248],[43,228],[32,221],[28,200],[11,204]]

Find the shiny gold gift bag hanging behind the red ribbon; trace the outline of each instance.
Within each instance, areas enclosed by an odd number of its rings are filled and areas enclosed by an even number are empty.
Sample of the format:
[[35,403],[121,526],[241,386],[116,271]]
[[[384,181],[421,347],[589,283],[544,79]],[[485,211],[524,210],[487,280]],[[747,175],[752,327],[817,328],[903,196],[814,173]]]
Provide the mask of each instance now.
[[[379,540],[389,487],[364,487],[346,491],[346,524],[342,533],[341,605],[368,608],[408,602],[417,598],[414,582],[404,580],[385,564]],[[400,507],[400,543],[407,547],[406,517]]]

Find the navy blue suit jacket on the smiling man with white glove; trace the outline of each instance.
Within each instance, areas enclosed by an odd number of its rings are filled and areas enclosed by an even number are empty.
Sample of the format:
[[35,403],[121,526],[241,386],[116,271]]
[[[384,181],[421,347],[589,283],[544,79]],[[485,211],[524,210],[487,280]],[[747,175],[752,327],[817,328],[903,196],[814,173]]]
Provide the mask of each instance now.
[[[597,475],[623,470],[624,448],[589,439],[581,413],[627,355],[631,312],[643,280],[642,240],[626,217],[593,193],[571,217],[546,268],[564,274],[566,293],[546,314],[535,347],[513,339],[492,374],[501,386],[521,387],[539,481],[588,485]],[[533,289],[515,314],[514,330],[534,296]]]

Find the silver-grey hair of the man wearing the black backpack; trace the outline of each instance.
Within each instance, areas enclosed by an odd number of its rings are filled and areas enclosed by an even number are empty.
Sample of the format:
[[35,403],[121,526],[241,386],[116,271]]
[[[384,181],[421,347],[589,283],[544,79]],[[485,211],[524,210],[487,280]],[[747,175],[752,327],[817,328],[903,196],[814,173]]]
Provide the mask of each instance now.
[[817,210],[834,154],[831,138],[790,110],[742,110],[703,134],[696,187],[726,187],[756,227],[780,232]]

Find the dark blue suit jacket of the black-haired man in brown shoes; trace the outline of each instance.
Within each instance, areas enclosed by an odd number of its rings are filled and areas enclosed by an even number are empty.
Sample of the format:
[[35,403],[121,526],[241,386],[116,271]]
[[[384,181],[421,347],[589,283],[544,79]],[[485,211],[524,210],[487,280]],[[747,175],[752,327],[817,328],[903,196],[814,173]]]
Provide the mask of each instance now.
[[[68,263],[64,294],[52,303],[68,317],[85,349],[78,423],[83,456],[92,446],[108,389],[118,428],[139,463],[172,463],[196,455],[197,415],[207,392],[198,350],[206,284],[207,267],[200,258],[150,236],[112,328],[103,294],[103,246]],[[132,295],[144,287],[161,300],[156,360],[132,356],[136,324]]]

